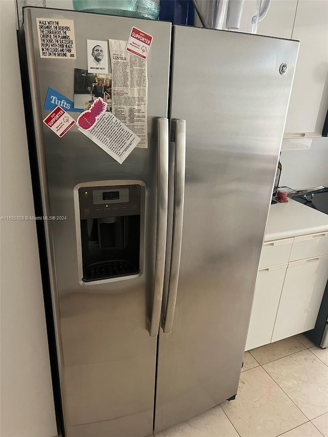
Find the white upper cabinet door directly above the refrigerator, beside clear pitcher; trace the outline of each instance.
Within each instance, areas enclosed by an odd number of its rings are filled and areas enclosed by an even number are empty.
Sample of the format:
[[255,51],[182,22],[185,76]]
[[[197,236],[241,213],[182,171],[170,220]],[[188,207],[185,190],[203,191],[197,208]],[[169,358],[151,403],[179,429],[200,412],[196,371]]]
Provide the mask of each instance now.
[[271,0],[269,12],[258,24],[258,35],[290,39],[296,6],[297,0]]

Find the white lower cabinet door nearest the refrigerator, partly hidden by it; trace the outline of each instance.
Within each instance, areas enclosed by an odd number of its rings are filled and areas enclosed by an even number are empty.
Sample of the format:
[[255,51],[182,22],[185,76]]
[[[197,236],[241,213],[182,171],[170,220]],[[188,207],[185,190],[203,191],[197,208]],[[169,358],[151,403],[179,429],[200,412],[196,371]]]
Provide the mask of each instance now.
[[259,270],[245,350],[271,342],[287,266],[286,263]]

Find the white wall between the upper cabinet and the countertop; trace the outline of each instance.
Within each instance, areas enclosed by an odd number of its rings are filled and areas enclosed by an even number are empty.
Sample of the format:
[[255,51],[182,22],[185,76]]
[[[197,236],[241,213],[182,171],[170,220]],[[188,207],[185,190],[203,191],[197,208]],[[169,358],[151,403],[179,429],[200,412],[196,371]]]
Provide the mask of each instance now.
[[328,186],[328,138],[314,138],[308,150],[281,152],[279,185],[290,188]]

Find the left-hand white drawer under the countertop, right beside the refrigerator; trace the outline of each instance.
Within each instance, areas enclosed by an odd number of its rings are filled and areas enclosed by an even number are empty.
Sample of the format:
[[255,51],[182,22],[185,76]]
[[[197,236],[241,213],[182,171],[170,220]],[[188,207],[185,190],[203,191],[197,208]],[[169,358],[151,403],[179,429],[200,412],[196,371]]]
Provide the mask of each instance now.
[[267,241],[263,244],[260,268],[289,261],[294,238]]

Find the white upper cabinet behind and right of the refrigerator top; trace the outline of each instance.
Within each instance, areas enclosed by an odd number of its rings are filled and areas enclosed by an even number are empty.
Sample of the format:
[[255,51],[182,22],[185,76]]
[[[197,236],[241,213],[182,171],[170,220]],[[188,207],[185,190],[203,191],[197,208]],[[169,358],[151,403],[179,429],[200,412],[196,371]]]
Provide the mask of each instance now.
[[272,0],[258,34],[300,41],[284,137],[321,136],[328,109],[328,0]]

